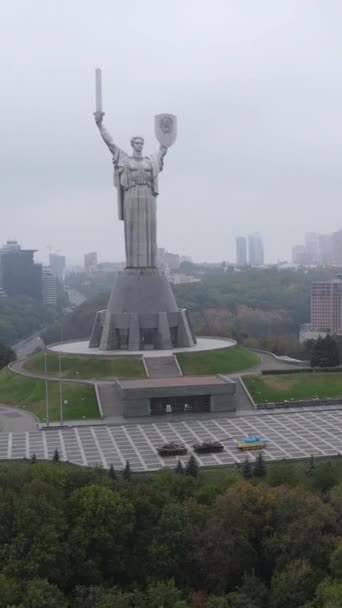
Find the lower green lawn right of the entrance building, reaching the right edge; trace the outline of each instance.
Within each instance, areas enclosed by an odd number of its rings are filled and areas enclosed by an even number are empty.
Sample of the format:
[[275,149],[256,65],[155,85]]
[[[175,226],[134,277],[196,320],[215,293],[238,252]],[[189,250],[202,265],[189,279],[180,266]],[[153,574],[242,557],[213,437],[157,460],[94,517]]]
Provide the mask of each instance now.
[[244,376],[256,403],[342,397],[342,372]]

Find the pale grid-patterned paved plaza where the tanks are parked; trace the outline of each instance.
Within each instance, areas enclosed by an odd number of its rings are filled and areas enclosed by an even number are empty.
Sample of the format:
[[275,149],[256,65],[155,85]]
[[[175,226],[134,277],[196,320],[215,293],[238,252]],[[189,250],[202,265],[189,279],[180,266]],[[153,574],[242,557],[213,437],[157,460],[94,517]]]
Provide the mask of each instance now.
[[[0,433],[0,459],[52,459],[58,449],[62,460],[83,465],[122,469],[129,460],[133,471],[155,471],[174,467],[176,458],[161,458],[157,447],[168,441],[184,443],[188,454],[193,443],[203,440],[223,441],[220,454],[197,456],[200,466],[242,462],[246,453],[234,445],[234,439],[246,434],[262,435],[268,440],[266,460],[333,456],[342,453],[342,409],[295,413],[258,414],[186,422],[127,424],[120,426],[82,426],[37,432]],[[254,460],[257,452],[248,452]]]

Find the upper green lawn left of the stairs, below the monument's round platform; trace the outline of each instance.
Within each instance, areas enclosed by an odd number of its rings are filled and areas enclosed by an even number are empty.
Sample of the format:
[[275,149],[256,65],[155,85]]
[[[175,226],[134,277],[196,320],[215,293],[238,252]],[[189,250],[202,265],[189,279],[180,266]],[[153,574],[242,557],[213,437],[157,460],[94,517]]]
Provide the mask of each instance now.
[[[31,357],[24,367],[32,372],[44,373],[44,353]],[[49,376],[58,376],[58,354],[48,353],[47,368]],[[145,368],[141,357],[77,357],[62,355],[62,376],[64,378],[83,378],[112,380],[113,378],[143,378]]]

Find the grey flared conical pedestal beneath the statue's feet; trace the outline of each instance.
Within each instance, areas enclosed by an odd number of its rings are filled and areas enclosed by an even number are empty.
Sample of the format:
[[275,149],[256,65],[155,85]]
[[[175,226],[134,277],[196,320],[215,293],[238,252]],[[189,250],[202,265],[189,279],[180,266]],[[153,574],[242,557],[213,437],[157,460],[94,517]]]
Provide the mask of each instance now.
[[107,310],[97,313],[90,348],[165,350],[196,344],[185,309],[177,306],[157,268],[126,268],[114,282]]

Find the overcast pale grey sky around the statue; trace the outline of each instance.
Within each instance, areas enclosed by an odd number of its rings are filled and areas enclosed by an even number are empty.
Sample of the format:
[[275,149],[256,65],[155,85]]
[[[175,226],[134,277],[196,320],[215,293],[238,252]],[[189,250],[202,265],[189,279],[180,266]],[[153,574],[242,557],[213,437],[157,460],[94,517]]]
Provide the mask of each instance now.
[[11,0],[0,9],[0,243],[124,257],[112,163],[94,111],[129,151],[178,117],[158,198],[158,244],[267,261],[305,231],[342,227],[340,0]]

